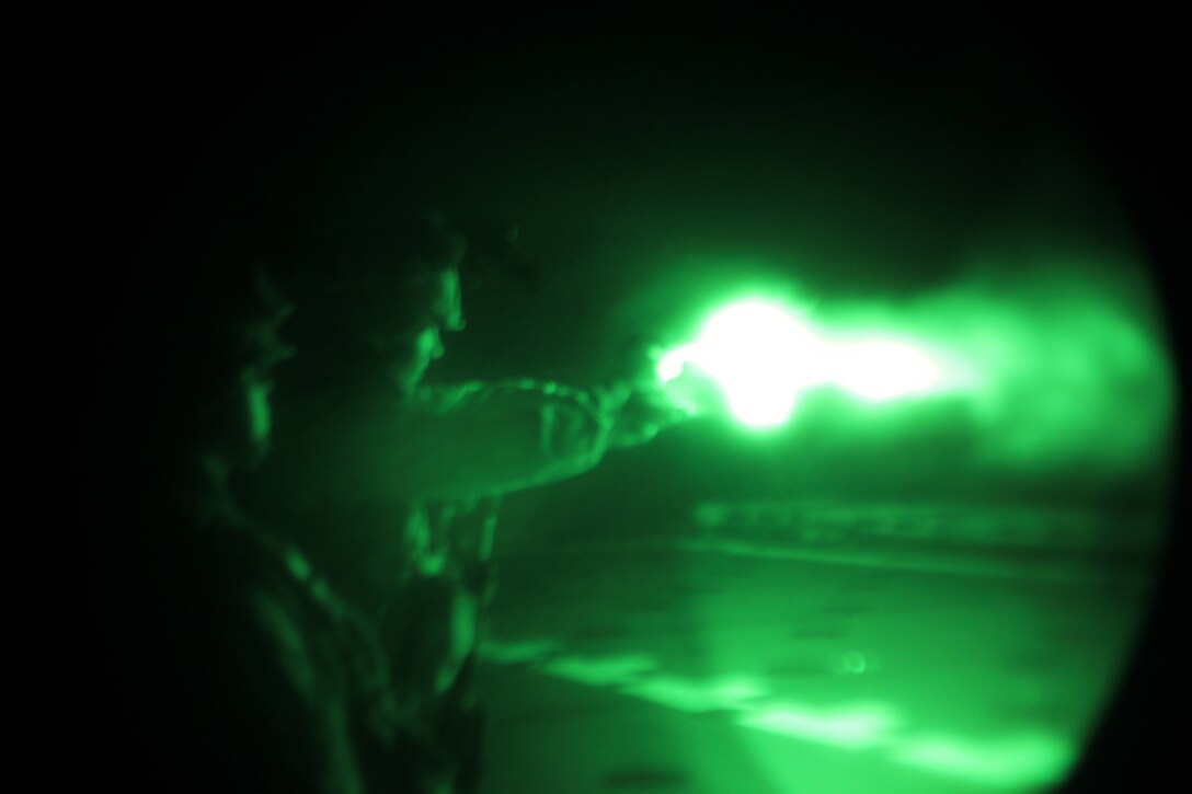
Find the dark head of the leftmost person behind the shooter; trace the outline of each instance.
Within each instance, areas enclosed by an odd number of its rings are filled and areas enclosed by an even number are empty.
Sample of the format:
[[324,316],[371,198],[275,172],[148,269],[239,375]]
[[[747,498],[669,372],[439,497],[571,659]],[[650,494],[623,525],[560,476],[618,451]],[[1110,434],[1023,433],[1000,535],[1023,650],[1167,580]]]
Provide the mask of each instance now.
[[279,333],[291,304],[242,256],[162,252],[130,275],[110,359],[113,454],[163,492],[252,469],[268,448],[274,368],[292,352]]

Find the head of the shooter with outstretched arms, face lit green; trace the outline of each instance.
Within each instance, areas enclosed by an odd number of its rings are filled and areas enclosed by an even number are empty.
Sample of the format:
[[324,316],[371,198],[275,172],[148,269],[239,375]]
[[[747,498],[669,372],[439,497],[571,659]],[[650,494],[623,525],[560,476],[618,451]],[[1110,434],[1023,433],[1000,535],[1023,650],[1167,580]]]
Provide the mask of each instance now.
[[346,225],[294,275],[293,339],[303,379],[383,378],[414,390],[464,328],[464,235],[437,215]]

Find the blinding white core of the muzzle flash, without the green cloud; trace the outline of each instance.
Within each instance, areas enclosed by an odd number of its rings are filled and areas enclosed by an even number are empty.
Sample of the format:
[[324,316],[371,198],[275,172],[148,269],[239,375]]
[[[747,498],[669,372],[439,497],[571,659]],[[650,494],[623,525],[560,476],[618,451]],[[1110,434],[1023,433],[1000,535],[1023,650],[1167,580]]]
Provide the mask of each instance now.
[[799,395],[834,385],[869,402],[937,392],[955,383],[943,361],[909,340],[832,339],[775,300],[749,298],[714,312],[699,339],[668,351],[669,383],[694,365],[724,391],[732,415],[756,428],[787,422]]

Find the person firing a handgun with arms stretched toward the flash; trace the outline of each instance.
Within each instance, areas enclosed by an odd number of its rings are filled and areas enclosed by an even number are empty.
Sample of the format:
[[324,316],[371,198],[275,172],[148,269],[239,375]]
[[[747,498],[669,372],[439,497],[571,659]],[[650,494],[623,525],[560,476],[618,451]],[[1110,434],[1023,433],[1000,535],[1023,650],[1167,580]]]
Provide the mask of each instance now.
[[378,627],[401,708],[432,726],[457,789],[472,792],[499,497],[581,474],[681,412],[628,382],[426,385],[445,335],[464,328],[466,250],[439,216],[381,217],[285,273],[296,356],[252,505]]

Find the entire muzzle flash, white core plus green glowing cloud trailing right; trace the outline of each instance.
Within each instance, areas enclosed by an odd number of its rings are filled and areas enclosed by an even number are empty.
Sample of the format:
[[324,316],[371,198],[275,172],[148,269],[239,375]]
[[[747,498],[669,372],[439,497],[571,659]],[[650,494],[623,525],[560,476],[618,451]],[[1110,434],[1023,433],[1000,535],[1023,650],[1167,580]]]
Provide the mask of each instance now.
[[946,397],[981,465],[1136,471],[1169,438],[1171,361],[1130,283],[1095,261],[1078,265],[974,268],[913,299],[824,303],[814,314],[768,289],[712,311],[656,373],[691,414],[725,410],[750,428],[832,404],[803,407],[813,390],[859,407]]

